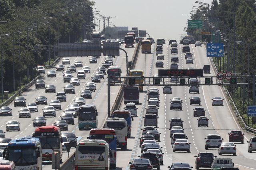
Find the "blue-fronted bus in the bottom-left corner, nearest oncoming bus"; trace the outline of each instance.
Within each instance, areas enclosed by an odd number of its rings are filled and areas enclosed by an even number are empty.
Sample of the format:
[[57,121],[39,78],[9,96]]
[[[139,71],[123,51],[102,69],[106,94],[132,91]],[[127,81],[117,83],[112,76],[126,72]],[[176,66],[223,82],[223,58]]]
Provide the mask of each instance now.
[[4,149],[4,158],[13,161],[16,170],[42,170],[42,148],[39,138],[16,138]]

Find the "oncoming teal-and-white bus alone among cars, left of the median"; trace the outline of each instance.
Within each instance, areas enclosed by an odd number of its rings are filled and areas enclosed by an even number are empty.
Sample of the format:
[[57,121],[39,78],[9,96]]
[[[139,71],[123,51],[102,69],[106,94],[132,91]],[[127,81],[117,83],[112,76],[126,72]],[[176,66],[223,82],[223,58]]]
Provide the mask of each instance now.
[[97,128],[98,127],[98,111],[95,105],[82,105],[78,110],[78,128]]

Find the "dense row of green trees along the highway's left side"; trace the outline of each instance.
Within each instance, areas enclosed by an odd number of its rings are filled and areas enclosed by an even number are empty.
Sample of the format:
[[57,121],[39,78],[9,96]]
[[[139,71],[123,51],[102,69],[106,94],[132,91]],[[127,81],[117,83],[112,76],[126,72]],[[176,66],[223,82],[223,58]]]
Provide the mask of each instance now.
[[[30,81],[33,67],[55,59],[53,45],[82,42],[90,35],[94,2],[89,0],[0,0],[0,51],[4,91]],[[20,81],[21,80],[21,81]]]

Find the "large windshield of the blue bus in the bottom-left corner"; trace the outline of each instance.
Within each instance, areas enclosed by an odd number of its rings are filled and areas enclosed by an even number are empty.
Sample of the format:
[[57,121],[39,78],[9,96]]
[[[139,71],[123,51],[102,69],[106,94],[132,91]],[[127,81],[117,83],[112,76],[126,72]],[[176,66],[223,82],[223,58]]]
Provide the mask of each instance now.
[[8,147],[8,160],[16,166],[37,164],[35,146],[12,146]]

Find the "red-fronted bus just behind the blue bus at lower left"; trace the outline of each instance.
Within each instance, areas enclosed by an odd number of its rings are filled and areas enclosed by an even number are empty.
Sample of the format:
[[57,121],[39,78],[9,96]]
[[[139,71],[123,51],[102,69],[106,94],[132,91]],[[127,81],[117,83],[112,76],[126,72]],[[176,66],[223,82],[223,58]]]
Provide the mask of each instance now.
[[60,162],[62,162],[62,137],[59,127],[46,125],[37,127],[32,137],[39,138],[42,145],[43,161],[52,160],[53,150],[60,153]]

